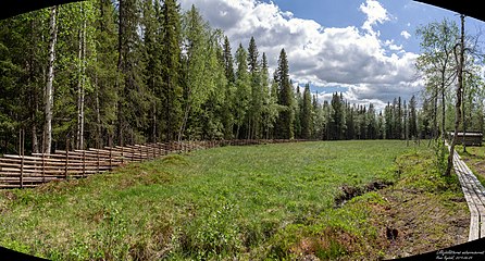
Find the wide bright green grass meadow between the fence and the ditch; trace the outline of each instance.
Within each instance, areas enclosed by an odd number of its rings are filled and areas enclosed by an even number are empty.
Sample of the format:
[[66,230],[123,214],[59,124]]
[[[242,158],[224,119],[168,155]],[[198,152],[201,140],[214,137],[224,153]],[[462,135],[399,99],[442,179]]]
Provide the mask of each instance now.
[[52,260],[383,257],[373,214],[383,197],[335,199],[341,187],[407,177],[396,159],[425,150],[391,140],[222,147],[3,190],[0,245]]

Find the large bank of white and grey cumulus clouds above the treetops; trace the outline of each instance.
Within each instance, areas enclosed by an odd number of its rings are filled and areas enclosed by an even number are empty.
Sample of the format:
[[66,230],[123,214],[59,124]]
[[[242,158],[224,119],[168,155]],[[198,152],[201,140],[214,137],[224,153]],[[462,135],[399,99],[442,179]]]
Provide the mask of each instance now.
[[295,17],[273,2],[182,0],[181,4],[183,10],[195,4],[213,27],[223,29],[233,51],[239,44],[247,47],[253,36],[273,70],[285,48],[294,82],[311,83],[322,97],[328,92],[326,87],[341,86],[351,101],[384,104],[397,96],[407,99],[419,89],[413,65],[418,54],[406,52],[391,39],[380,39],[375,27],[393,16],[376,0],[360,4],[366,16],[361,25],[339,28]]

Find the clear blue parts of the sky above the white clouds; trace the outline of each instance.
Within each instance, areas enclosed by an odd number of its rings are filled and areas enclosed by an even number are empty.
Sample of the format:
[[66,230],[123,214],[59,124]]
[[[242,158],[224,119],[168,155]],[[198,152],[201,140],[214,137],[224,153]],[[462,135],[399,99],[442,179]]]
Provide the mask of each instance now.
[[[365,2],[362,0],[265,0],[264,2],[274,2],[282,11],[290,11],[296,17],[314,20],[322,26],[345,27],[359,25],[365,20],[365,14],[359,10]],[[382,38],[396,39],[396,44],[402,45],[407,51],[420,51],[420,41],[414,36],[416,26],[440,21],[443,17],[459,22],[455,12],[415,1],[380,0],[377,2],[391,16],[387,23],[378,25]],[[467,24],[470,29],[475,29],[475,26],[482,26],[483,22],[468,18]],[[403,30],[411,37],[399,38]]]

